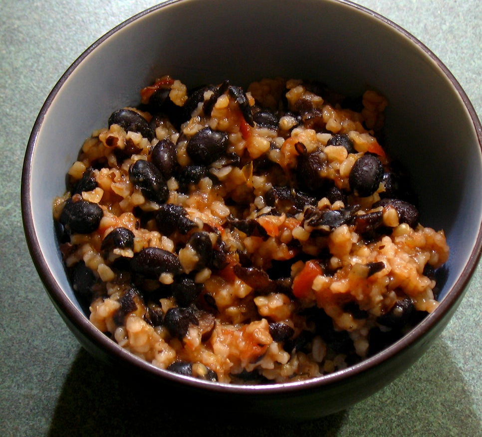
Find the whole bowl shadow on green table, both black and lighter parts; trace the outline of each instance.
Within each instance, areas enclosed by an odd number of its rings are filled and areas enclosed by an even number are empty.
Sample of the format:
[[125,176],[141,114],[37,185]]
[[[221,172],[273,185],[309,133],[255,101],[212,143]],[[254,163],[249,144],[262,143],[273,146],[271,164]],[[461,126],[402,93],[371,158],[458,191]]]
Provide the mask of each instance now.
[[[219,423],[215,405],[212,414],[208,410],[193,418],[197,407],[189,398],[171,398],[154,387],[136,385],[81,349],[58,399],[49,436],[336,436],[342,425],[359,436],[401,431],[404,426],[420,432],[435,426],[447,436],[457,426],[479,435],[471,394],[447,345],[436,342],[428,354],[429,359],[425,355],[402,378],[346,412],[301,423],[252,423],[240,415]],[[434,360],[437,374],[417,380],[417,375],[435,370],[423,370]]]

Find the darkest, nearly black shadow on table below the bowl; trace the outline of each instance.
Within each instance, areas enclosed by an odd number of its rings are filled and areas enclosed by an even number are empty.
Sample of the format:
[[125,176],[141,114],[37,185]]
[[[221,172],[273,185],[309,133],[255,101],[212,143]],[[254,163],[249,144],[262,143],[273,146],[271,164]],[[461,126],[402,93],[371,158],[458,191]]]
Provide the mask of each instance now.
[[[264,423],[242,413],[219,420],[217,408],[116,373],[80,349],[67,375],[49,436],[336,436],[344,412],[310,422]],[[196,411],[201,410],[201,414]]]

